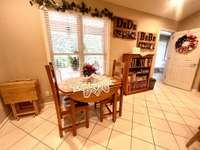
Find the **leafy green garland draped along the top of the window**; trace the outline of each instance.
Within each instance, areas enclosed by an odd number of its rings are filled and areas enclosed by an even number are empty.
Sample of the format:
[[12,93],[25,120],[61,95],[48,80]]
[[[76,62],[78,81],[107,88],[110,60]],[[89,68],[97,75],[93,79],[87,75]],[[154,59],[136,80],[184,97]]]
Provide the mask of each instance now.
[[109,19],[113,19],[113,13],[109,11],[107,8],[99,10],[97,8],[92,9],[88,7],[84,2],[81,4],[76,4],[75,2],[68,2],[66,0],[62,0],[57,3],[54,0],[30,0],[31,6],[38,5],[40,9],[44,8],[53,8],[57,11],[75,11],[84,14],[90,14],[93,17],[107,17]]

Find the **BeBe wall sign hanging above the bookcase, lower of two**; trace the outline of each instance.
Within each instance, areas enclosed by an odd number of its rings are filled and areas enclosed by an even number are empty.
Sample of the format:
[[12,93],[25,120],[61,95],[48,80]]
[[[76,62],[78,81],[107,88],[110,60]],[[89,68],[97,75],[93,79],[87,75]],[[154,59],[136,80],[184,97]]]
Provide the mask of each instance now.
[[137,47],[141,50],[154,50],[156,45],[156,34],[138,32]]

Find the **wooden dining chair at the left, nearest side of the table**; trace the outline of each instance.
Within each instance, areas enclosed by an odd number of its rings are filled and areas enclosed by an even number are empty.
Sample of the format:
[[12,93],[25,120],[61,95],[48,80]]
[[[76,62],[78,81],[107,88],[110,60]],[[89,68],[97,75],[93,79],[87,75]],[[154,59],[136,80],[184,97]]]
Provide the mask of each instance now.
[[[54,72],[52,63],[50,63],[49,65],[46,65],[45,68],[46,68],[46,72],[47,72],[48,79],[50,82],[50,86],[51,86],[51,90],[52,90],[52,94],[53,94],[53,100],[55,103],[59,134],[60,134],[60,137],[63,137],[64,130],[67,130],[67,129],[72,129],[72,131],[74,130],[73,126],[64,126],[63,125],[64,124],[63,121],[64,121],[64,118],[66,117],[66,115],[72,114],[71,106],[69,103],[66,103],[66,101],[60,99],[59,89],[58,89],[57,80],[56,80],[56,76],[55,76],[55,72]],[[68,100],[70,100],[70,99],[68,98]],[[85,123],[86,127],[88,128],[89,127],[88,103],[76,102],[75,109],[73,111],[75,111],[75,113],[80,112],[80,111],[85,112],[86,121],[83,123]]]

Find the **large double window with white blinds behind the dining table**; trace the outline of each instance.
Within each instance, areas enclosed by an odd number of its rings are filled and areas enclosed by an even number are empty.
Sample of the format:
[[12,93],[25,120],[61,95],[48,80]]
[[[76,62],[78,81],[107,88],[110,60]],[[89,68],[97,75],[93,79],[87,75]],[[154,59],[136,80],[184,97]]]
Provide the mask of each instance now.
[[106,20],[55,11],[45,16],[51,56],[62,79],[79,76],[85,63],[105,73]]

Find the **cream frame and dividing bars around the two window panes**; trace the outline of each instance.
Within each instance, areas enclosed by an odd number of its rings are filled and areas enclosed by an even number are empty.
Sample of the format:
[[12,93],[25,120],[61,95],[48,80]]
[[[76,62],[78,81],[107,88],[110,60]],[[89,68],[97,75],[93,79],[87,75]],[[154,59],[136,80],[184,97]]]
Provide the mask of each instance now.
[[[54,10],[50,10],[50,11],[54,11]],[[56,12],[56,11],[55,11]],[[62,12],[61,12],[62,13]],[[69,13],[69,12],[66,12]],[[110,21],[108,19],[105,18],[101,18],[101,21],[104,21],[104,35],[103,35],[103,53],[84,53],[84,41],[83,41],[83,23],[82,20],[84,17],[89,17],[92,18],[91,16],[87,16],[87,15],[81,15],[81,14],[77,14],[77,13],[69,13],[72,15],[76,15],[77,16],[77,21],[79,26],[78,29],[78,52],[77,53],[54,53],[53,51],[53,47],[52,47],[52,42],[51,42],[51,33],[49,30],[49,20],[48,20],[48,11],[41,11],[41,18],[43,20],[43,31],[45,32],[45,48],[46,48],[46,52],[47,52],[47,60],[53,61],[54,62],[54,56],[69,56],[69,55],[77,55],[79,57],[79,62],[80,62],[80,75],[82,74],[81,72],[81,68],[83,67],[84,64],[84,58],[85,56],[91,56],[91,55],[97,55],[97,56],[103,56],[104,57],[104,74],[108,75],[109,74],[109,43],[110,43]],[[94,19],[99,19],[99,18],[94,18]]]

